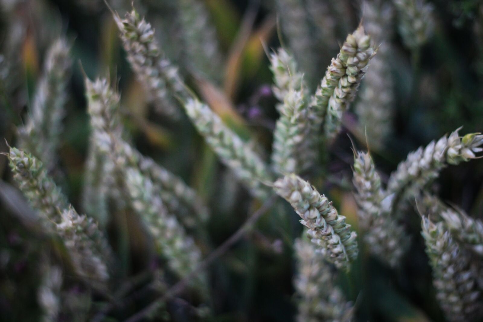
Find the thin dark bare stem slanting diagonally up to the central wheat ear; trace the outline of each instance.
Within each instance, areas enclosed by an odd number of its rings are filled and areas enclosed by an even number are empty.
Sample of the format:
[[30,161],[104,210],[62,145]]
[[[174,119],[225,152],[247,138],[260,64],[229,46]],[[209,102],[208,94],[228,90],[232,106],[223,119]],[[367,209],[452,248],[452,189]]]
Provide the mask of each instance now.
[[164,303],[170,297],[176,296],[180,292],[182,292],[189,281],[197,276],[201,271],[204,271],[208,266],[210,266],[213,261],[222,256],[225,252],[227,252],[231,246],[233,246],[240,238],[242,238],[245,233],[251,230],[253,225],[258,221],[258,219],[270,209],[271,205],[275,201],[276,196],[271,196],[268,198],[263,205],[258,208],[246,221],[241,227],[231,235],[223,244],[221,244],[217,249],[215,249],[210,255],[208,255],[198,266],[191,271],[188,275],[185,276],[182,280],[174,284],[164,295],[160,296],[156,299],[153,303],[148,305],[147,307],[143,308],[141,311],[137,312],[136,314],[132,315],[130,318],[125,320],[124,322],[139,322],[144,317],[148,316],[152,312],[156,311],[161,303]]

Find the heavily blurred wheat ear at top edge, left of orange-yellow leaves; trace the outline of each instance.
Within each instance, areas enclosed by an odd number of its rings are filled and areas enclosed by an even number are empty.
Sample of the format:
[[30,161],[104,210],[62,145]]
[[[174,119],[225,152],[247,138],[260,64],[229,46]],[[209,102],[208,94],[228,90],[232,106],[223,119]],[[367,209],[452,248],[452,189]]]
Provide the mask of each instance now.
[[207,8],[202,0],[178,0],[177,5],[187,65],[209,80],[219,83],[223,75],[219,71],[219,66],[223,65],[223,56]]

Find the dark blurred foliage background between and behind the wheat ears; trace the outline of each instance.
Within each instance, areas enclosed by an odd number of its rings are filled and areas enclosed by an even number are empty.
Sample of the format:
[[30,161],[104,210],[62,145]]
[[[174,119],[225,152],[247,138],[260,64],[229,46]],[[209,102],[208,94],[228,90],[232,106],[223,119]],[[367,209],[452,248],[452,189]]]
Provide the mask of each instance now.
[[[130,0],[108,2],[121,16],[131,8]],[[292,49],[309,86],[315,89],[331,57],[337,55],[364,12],[359,1],[350,0],[200,0],[200,7],[188,8],[192,12],[184,18],[194,14],[199,18],[197,24],[208,23],[213,28],[218,56],[205,61],[205,66],[189,54],[190,44],[180,34],[183,17],[176,2],[135,0],[134,5],[155,27],[161,47],[180,67],[187,84],[242,138],[261,143],[266,151],[270,151],[278,117],[267,52],[281,45]],[[464,126],[462,134],[482,130],[483,3],[427,2],[433,6],[434,32],[417,48],[401,38],[396,14],[387,19],[381,48],[391,50],[388,66],[392,84],[385,84],[394,93],[388,106],[389,134],[380,144],[366,142],[361,131],[364,125],[354,108],[360,100],[356,98],[344,116],[343,133],[327,152],[327,168],[312,182],[334,200],[355,229],[350,138],[359,149],[369,147],[384,181],[417,147],[459,126]],[[186,116],[173,122],[148,103],[126,61],[113,15],[102,0],[1,0],[0,4],[0,48],[4,56],[0,62],[0,137],[10,145],[15,144],[16,128],[25,122],[46,48],[62,35],[72,44],[74,67],[59,163],[66,179],[63,189],[76,209],[82,209],[90,133],[83,73],[91,79],[107,76],[117,84],[123,122],[133,144],[181,176],[206,200],[211,217],[210,244],[203,245],[205,253],[231,236],[260,204],[220,164]],[[367,29],[370,32],[369,26]],[[301,36],[294,38],[298,33]],[[361,91],[363,86],[364,81]],[[7,151],[4,140],[0,140],[0,151]],[[48,241],[38,238],[30,221],[34,214],[14,188],[3,156],[0,175],[0,321],[39,321],[37,263]],[[445,169],[434,190],[442,199],[481,218],[482,178],[483,164],[473,161]],[[298,219],[289,206],[277,203],[250,234],[215,261],[210,273],[217,312],[213,321],[294,321],[292,245],[302,231]],[[120,280],[156,266],[156,256],[136,226],[139,223],[129,216],[127,220],[132,221],[128,224],[128,250],[116,249],[124,252]],[[391,270],[371,258],[362,245],[351,274],[340,280],[346,297],[356,301],[357,321],[443,321],[420,236],[420,217],[412,211],[405,221],[412,240],[408,241],[411,248],[404,264]],[[119,238],[115,220],[108,224],[108,233],[115,245]],[[32,242],[34,239],[40,242]],[[71,293],[83,294],[83,290],[72,289]],[[140,295],[105,321],[123,321],[149,303],[150,296]],[[98,300],[93,296],[91,312],[96,312]],[[179,310],[177,320],[173,320],[189,321],[182,306]],[[87,317],[78,319],[75,321],[87,321]]]

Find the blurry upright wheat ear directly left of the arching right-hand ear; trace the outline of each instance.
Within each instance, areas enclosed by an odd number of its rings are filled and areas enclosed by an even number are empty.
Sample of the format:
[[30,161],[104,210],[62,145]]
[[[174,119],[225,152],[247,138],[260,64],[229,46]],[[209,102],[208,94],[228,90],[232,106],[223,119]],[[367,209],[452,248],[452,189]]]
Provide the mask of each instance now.
[[381,178],[369,153],[354,156],[354,186],[357,216],[370,252],[389,266],[396,267],[409,247],[404,228],[391,218],[392,196],[385,196]]

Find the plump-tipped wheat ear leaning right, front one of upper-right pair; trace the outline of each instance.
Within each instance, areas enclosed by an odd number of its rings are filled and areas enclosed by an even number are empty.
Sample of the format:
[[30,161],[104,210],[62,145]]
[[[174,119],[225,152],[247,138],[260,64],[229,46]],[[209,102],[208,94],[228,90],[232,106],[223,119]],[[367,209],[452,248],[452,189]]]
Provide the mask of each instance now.
[[[354,100],[366,70],[369,60],[376,54],[377,48],[371,44],[371,39],[364,31],[364,27],[359,26],[353,34],[349,35],[342,45],[339,59],[345,68],[345,74],[338,79],[338,83],[333,88],[331,96],[327,101],[327,116],[325,118],[324,129],[327,140],[333,140],[341,130],[342,114],[347,110],[349,104]],[[337,58],[336,58],[337,59]],[[330,76],[331,68],[327,70]],[[328,85],[329,90],[332,82],[322,80],[321,86]],[[330,84],[330,85],[329,85]],[[324,91],[322,91],[324,92]],[[317,97],[317,93],[316,93]]]

